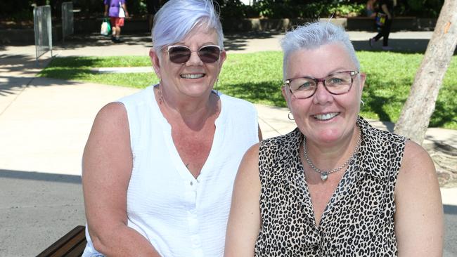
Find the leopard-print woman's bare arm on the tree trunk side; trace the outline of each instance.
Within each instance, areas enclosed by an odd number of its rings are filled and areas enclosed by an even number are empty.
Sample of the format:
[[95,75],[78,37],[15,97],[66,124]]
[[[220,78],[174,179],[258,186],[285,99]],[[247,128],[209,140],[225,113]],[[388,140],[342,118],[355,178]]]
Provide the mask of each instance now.
[[399,256],[442,256],[444,221],[437,173],[427,152],[412,141],[406,142],[395,202]]

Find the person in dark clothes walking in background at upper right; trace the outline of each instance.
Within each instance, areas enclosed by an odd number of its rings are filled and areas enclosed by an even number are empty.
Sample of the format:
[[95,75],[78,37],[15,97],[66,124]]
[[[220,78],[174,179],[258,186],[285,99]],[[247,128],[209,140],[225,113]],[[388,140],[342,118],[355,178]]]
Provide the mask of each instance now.
[[370,44],[371,47],[373,47],[373,44],[376,41],[378,41],[379,39],[381,39],[381,37],[382,37],[382,50],[384,50],[384,51],[392,50],[392,47],[389,46],[389,34],[390,34],[390,29],[392,27],[392,20],[394,18],[393,14],[394,14],[394,1],[380,0],[379,1],[379,10],[378,10],[377,15],[379,15],[380,18],[383,18],[385,20],[384,20],[384,22],[382,22],[382,25],[380,25],[380,32],[375,37],[368,39],[368,43]]

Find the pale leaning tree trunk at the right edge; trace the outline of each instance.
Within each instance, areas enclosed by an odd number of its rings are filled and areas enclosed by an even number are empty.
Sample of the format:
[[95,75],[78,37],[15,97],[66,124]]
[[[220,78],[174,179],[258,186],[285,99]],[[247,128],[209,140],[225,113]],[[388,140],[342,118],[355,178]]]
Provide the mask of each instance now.
[[456,44],[457,1],[445,0],[408,99],[395,124],[395,133],[422,144]]

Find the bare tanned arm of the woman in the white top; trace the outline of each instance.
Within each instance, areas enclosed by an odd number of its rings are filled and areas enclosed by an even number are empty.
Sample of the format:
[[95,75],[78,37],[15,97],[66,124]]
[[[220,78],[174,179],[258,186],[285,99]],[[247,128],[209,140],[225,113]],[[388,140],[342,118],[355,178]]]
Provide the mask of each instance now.
[[98,112],[83,154],[89,235],[106,256],[159,256],[145,237],[127,227],[131,167],[127,112],[122,104],[110,103]]

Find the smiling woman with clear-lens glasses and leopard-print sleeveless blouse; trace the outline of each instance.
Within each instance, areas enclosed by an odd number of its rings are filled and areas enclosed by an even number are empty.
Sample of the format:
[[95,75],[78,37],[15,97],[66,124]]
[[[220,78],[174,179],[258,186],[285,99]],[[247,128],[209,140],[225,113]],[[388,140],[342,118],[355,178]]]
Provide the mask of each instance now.
[[314,22],[281,46],[297,129],[243,157],[225,256],[441,256],[433,162],[359,116],[366,75],[344,29]]

